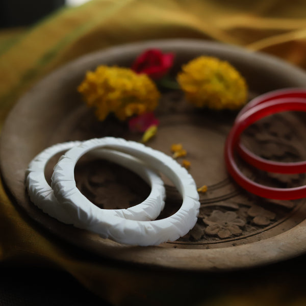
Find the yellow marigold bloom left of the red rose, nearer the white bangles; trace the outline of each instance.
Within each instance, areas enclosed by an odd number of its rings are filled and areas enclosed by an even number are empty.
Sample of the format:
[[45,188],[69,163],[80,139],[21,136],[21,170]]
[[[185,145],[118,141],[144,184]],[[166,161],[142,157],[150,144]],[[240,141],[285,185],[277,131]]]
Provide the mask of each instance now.
[[160,93],[146,74],[129,68],[98,66],[88,71],[78,91],[99,120],[114,113],[119,120],[156,109]]

